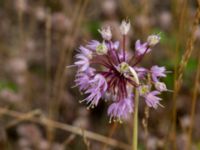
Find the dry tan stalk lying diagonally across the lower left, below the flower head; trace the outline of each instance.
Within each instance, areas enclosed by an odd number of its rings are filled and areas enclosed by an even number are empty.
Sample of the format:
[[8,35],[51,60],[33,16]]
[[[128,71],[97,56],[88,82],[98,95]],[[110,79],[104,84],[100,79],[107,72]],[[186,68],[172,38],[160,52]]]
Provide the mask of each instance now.
[[[35,112],[35,111],[32,111],[32,112]],[[28,113],[28,114],[31,114],[31,113]],[[109,146],[116,147],[118,149],[124,149],[124,150],[131,149],[131,147],[129,145],[127,145],[123,142],[119,142],[117,140],[108,138],[106,136],[103,136],[103,135],[100,135],[100,134],[97,134],[97,133],[94,133],[91,131],[84,130],[84,135],[83,135],[82,128],[51,120],[51,119],[45,117],[44,115],[42,115],[42,112],[40,114],[40,117],[30,118],[30,117],[25,117],[25,116],[27,116],[27,113],[21,113],[21,112],[14,111],[14,110],[0,108],[0,117],[3,115],[10,116],[10,117],[13,117],[16,119],[23,119],[23,121],[30,121],[30,122],[38,123],[40,125],[45,126],[46,128],[48,128],[50,126],[51,128],[55,128],[55,129],[67,131],[67,132],[70,132],[70,133],[73,133],[76,135],[84,136],[85,138],[88,138],[91,140],[95,140],[95,141],[98,141],[101,143],[107,143]]]

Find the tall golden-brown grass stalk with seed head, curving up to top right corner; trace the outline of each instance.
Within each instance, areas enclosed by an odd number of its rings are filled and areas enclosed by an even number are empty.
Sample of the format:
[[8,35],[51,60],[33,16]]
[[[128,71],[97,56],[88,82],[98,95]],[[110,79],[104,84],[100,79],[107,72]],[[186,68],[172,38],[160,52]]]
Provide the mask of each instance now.
[[182,56],[181,62],[178,66],[178,70],[176,73],[176,79],[175,79],[175,85],[174,85],[174,94],[173,94],[173,108],[172,108],[172,131],[171,131],[171,136],[172,136],[172,145],[173,145],[173,150],[176,150],[176,120],[177,120],[177,106],[176,106],[176,99],[177,95],[180,91],[180,87],[182,84],[182,77],[183,73],[185,70],[185,67],[188,63],[188,60],[191,56],[191,53],[193,51],[193,46],[195,42],[195,31],[197,30],[198,24],[199,24],[199,19],[200,19],[200,7],[198,6],[198,9],[196,11],[195,19],[193,22],[192,26],[192,31],[191,34],[188,38],[187,45],[186,45],[186,51]]

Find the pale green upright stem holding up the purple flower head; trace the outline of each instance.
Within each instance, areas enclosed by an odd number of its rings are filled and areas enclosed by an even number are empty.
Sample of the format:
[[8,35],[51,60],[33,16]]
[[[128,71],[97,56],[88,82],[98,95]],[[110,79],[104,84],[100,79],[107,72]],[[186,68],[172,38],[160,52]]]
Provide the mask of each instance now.
[[139,93],[138,93],[138,89],[135,88],[132,150],[137,150],[137,147],[138,147],[138,105],[139,105]]

